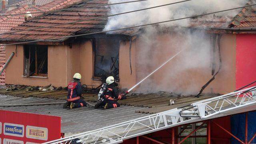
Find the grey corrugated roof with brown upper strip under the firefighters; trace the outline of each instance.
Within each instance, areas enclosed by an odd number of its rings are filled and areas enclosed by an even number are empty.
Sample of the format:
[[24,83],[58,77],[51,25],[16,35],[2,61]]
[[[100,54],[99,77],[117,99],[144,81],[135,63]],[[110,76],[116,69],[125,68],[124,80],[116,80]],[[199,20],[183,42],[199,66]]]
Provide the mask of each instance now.
[[[9,88],[13,88],[13,90],[8,89],[9,91],[7,91],[6,88],[0,89],[0,94],[5,94],[0,95],[2,105],[63,102],[67,96],[66,90],[38,92],[36,90],[26,91],[27,86],[10,86]],[[90,93],[84,93],[83,96],[86,101],[90,101],[92,103],[98,98],[96,94]],[[180,96],[167,92],[130,94],[127,96],[126,100],[118,101],[121,104],[121,107],[109,110],[94,109],[90,106],[66,110],[62,108],[61,104],[50,106],[0,107],[0,109],[61,116],[62,132],[65,132],[66,135],[71,135],[103,128],[116,123],[125,122],[127,120],[141,118],[152,113],[163,112],[165,110],[171,110],[188,105],[190,106],[193,102],[212,98],[213,96],[216,95],[194,98],[193,96]],[[174,100],[174,105],[169,105],[170,100]],[[110,123],[106,123],[106,121]],[[136,129],[140,128],[141,126],[136,127]]]

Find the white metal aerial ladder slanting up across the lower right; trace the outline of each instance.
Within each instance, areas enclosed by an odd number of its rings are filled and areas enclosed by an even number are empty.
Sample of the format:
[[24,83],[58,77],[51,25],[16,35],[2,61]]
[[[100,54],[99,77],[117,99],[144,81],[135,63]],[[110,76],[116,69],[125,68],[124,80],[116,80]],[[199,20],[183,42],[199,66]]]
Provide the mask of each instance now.
[[44,144],[118,144],[182,124],[256,110],[256,86]]

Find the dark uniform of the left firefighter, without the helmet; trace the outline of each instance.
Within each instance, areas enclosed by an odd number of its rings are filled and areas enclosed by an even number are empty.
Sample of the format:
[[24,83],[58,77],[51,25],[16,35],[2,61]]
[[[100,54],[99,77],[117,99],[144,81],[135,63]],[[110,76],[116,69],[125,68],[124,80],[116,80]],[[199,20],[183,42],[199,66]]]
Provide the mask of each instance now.
[[73,102],[75,104],[75,108],[86,106],[86,102],[81,98],[81,96],[81,83],[74,79],[68,84],[68,102]]

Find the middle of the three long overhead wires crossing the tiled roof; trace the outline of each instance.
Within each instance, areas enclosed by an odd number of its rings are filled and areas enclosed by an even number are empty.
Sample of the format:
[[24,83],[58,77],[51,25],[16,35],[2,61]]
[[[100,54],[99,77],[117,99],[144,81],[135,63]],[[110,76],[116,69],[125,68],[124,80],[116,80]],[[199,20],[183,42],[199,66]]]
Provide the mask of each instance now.
[[[84,22],[84,21],[89,21],[89,20],[98,20],[98,19],[102,19],[102,18],[108,18],[108,17],[111,17],[111,16],[118,16],[118,15],[122,15],[122,14],[138,12],[138,11],[142,11],[142,10],[149,10],[149,9],[152,9],[152,8],[159,8],[159,7],[162,7],[162,6],[168,6],[168,5],[178,4],[178,3],[182,3],[182,2],[188,2],[188,1],[191,1],[191,0],[183,0],[183,1],[179,1],[179,2],[173,2],[173,3],[169,3],[169,4],[153,6],[153,7],[143,8],[143,9],[139,9],[139,10],[132,10],[132,11],[129,11],[129,12],[122,12],[122,13],[118,13],[118,14],[112,14],[112,15],[109,15],[109,16],[99,16],[99,17],[96,17],[96,18],[89,18],[89,19],[86,19],[86,20],[77,20],[77,21],[74,21],[74,22],[67,22],[67,23],[63,23],[63,24],[55,24],[55,25],[52,25],[52,26],[30,28],[30,29],[27,29],[27,30],[16,30],[16,31],[13,31],[13,32],[5,32],[5,33],[2,33],[2,34],[12,34],[12,33],[16,33],[16,32],[25,32],[25,31],[28,31],[28,30],[38,30],[38,29],[41,29],[41,28],[51,28],[51,27],[54,27],[54,26],[61,26],[61,25],[66,25],[66,24],[74,24],[74,23],[77,23],[77,22]],[[2,34],[0,34],[0,35],[2,35]]]

